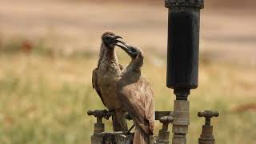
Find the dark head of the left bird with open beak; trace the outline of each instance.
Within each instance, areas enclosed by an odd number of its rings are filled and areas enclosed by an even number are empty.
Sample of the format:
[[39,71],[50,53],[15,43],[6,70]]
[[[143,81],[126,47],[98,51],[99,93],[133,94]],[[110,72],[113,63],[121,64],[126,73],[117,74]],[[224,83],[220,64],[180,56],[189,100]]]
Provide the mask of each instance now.
[[102,42],[108,49],[114,49],[114,46],[116,46],[117,43],[120,42],[118,38],[122,37],[115,35],[112,32],[105,32],[104,34],[102,34]]

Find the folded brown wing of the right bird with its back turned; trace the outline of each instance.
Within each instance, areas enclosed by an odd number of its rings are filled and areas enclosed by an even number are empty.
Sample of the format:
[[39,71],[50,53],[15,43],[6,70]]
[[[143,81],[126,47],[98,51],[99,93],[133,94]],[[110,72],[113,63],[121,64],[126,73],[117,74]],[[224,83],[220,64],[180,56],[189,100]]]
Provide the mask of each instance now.
[[[144,78],[131,82],[124,76],[117,84],[118,96],[135,124],[148,134],[154,131],[154,94]],[[130,81],[130,82],[129,82]]]

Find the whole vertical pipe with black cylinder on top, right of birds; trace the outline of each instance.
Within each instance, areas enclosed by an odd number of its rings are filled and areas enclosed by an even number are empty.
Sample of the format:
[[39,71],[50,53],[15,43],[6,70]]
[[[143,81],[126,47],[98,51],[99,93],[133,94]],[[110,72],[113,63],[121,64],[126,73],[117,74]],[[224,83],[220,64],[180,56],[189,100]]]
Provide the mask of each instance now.
[[187,97],[198,87],[200,9],[203,0],[166,0],[168,45],[166,86],[174,89],[173,144],[186,144],[190,124]]

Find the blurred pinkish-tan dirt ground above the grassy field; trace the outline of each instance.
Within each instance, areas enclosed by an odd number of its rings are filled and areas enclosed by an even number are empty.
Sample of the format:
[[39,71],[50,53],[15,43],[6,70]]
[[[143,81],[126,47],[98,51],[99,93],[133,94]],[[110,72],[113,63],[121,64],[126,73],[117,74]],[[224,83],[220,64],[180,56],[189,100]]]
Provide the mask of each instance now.
[[[201,18],[202,57],[256,64],[256,10],[206,5]],[[0,0],[2,39],[45,38],[62,49],[98,51],[100,35],[111,30],[126,41],[166,53],[167,9],[163,2],[114,3]]]

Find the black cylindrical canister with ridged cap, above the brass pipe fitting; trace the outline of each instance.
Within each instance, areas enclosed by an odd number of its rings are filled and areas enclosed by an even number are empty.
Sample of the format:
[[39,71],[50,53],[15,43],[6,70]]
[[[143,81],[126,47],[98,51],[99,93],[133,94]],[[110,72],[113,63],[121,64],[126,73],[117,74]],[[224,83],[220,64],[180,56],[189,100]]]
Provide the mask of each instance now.
[[176,1],[170,0],[168,14],[166,86],[195,89],[198,87],[200,9],[203,2]]

